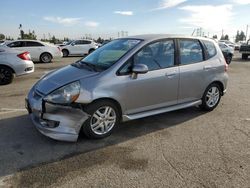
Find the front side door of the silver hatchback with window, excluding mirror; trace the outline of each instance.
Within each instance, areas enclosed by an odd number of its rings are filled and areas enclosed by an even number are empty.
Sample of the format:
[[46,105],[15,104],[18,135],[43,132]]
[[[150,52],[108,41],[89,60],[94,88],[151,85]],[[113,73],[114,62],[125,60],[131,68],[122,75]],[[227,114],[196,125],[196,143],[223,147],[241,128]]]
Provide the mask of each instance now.
[[126,75],[126,114],[177,103],[179,67],[175,66],[174,46],[173,40],[157,41],[143,47],[129,60],[131,66],[147,65],[149,72],[138,74],[136,79]]

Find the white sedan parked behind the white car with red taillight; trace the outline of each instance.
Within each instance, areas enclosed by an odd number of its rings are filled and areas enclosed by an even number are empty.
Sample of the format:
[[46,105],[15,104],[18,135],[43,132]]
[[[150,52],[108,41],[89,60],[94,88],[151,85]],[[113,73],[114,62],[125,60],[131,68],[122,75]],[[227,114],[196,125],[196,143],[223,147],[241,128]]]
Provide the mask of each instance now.
[[29,52],[32,61],[50,63],[53,58],[62,57],[60,47],[38,40],[16,40],[5,45],[15,50]]

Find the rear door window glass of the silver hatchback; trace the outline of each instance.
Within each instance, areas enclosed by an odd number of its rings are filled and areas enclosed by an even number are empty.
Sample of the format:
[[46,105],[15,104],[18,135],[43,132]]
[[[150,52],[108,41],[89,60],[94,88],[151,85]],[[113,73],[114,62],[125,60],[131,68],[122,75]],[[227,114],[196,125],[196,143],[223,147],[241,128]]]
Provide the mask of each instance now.
[[192,64],[203,61],[202,48],[198,40],[180,40],[181,64]]

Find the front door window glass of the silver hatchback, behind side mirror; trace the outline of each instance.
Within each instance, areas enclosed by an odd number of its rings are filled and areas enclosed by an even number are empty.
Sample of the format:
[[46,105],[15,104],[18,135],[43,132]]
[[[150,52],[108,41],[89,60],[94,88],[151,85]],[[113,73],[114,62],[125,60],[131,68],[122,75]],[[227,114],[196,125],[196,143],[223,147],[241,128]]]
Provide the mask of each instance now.
[[144,64],[149,70],[157,70],[174,65],[174,42],[159,41],[143,47],[135,56],[134,64]]

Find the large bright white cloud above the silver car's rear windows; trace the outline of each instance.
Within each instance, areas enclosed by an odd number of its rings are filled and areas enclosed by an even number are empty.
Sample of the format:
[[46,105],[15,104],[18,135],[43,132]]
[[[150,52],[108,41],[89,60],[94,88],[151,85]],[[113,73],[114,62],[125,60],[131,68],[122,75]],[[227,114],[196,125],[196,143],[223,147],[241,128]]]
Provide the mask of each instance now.
[[211,31],[228,28],[233,18],[232,5],[201,5],[184,6],[179,9],[190,12],[186,18],[179,21],[195,27]]

